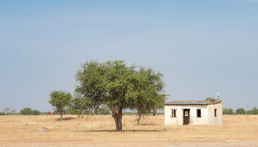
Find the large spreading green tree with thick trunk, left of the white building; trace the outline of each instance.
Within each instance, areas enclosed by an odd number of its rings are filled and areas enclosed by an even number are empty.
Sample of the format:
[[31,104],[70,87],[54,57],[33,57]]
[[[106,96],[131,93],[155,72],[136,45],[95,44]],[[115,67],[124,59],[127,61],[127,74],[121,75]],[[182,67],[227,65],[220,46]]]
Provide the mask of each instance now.
[[154,104],[160,91],[164,92],[163,74],[152,68],[125,61],[89,60],[77,70],[75,97],[72,106],[79,116],[91,114],[99,107],[108,107],[116,123],[116,131],[122,131],[122,110],[135,110]]

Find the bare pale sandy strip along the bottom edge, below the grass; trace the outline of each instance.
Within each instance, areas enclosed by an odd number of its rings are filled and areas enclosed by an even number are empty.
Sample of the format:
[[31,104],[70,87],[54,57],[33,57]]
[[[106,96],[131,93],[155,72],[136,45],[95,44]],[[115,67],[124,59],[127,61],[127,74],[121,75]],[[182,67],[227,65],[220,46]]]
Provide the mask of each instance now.
[[11,142],[0,142],[0,146],[3,147],[82,147],[82,146],[94,146],[94,147],[102,147],[102,146],[126,146],[126,147],[134,147],[134,146],[167,146],[167,147],[233,147],[233,146],[258,146],[258,141],[240,141],[240,140],[227,140],[224,142],[212,142],[212,143],[158,143],[158,142],[150,142],[150,143],[133,143],[133,142],[123,142],[123,143],[78,143],[78,142],[34,142],[34,143],[11,143]]

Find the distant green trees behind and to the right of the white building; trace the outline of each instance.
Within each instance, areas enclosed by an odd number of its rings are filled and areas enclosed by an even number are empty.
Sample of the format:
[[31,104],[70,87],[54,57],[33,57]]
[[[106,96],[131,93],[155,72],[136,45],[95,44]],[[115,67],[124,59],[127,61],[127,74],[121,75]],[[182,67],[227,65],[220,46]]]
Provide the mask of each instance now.
[[[217,99],[215,99],[214,97],[207,97],[205,99],[205,101],[213,101],[213,100],[217,100]],[[233,109],[231,109],[231,108],[227,109],[225,107],[225,108],[222,108],[222,114],[225,114],[225,115],[238,115],[238,114],[258,115],[258,109],[256,107],[254,107],[251,110],[246,111],[244,108],[238,108],[238,109],[236,109],[236,112],[234,112]]]

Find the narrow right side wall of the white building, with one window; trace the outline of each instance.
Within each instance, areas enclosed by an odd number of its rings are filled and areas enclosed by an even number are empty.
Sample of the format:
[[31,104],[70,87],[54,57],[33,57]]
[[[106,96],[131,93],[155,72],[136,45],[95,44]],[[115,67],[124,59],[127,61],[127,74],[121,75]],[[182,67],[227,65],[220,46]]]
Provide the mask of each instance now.
[[[217,115],[215,117],[215,110]],[[222,103],[208,105],[209,125],[222,125]]]

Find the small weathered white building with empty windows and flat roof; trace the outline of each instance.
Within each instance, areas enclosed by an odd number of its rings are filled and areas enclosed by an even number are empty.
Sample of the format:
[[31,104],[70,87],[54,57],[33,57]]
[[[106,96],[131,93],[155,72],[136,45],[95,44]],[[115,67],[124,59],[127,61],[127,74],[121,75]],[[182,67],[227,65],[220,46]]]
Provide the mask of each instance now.
[[222,125],[222,101],[165,103],[165,125]]

